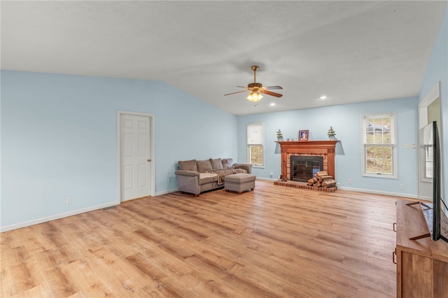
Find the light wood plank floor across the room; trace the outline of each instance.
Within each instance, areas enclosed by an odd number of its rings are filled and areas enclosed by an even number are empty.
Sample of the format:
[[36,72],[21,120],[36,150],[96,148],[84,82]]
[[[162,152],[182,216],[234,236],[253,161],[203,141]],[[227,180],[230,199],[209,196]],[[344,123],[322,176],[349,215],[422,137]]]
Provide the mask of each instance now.
[[256,181],[4,232],[1,297],[395,297],[395,200]]

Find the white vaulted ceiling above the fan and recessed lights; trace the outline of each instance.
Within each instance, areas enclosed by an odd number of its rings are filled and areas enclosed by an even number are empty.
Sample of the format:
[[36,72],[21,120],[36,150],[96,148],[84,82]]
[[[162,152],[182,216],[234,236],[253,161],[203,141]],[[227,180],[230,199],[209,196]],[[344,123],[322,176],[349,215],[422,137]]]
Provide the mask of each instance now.
[[[1,1],[1,69],[162,80],[235,115],[414,97],[446,4]],[[283,97],[223,96],[254,64]]]

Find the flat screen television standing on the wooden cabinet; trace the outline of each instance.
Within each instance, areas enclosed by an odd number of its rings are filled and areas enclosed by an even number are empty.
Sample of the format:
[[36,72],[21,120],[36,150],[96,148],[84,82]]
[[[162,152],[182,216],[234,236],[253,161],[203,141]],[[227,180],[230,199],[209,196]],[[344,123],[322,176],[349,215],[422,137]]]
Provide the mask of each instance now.
[[429,234],[413,239],[430,236],[434,241],[443,239],[448,242],[447,205],[441,197],[440,149],[437,122],[431,122],[419,129],[419,203],[428,224]]

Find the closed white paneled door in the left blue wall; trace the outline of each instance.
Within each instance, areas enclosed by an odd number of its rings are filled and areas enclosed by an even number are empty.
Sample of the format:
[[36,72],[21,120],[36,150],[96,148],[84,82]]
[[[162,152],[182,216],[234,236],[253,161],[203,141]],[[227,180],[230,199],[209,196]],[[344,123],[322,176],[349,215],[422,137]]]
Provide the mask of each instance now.
[[120,117],[121,201],[151,194],[151,127],[144,115]]

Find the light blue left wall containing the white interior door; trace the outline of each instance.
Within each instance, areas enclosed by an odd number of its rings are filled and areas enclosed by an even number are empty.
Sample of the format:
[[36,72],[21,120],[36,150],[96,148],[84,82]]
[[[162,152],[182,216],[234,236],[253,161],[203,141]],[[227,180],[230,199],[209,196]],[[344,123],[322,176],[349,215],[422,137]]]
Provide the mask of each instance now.
[[236,116],[166,83],[1,71],[2,230],[117,200],[118,110],[155,115],[156,194],[178,160],[237,158]]

